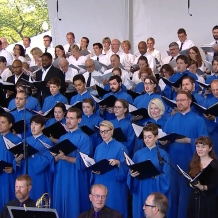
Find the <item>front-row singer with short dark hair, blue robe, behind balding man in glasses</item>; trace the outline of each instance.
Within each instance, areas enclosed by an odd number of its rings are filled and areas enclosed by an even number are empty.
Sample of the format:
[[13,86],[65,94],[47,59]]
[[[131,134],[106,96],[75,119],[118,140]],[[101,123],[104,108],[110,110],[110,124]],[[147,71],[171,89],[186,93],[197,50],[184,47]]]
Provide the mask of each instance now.
[[127,184],[129,186],[130,192],[133,195],[133,218],[143,217],[143,210],[141,209],[141,207],[144,204],[144,200],[152,192],[163,193],[167,196],[169,204],[171,202],[170,166],[163,161],[160,162],[158,155],[163,157],[166,161],[169,161],[169,157],[164,150],[156,146],[156,141],[158,139],[158,127],[153,123],[147,124],[143,128],[143,138],[146,146],[134,154],[133,162],[140,163],[146,160],[150,160],[158,169],[160,175],[157,175],[154,178],[152,177],[141,180],[137,178],[137,176],[139,175],[138,171],[134,172],[130,170],[128,174]]

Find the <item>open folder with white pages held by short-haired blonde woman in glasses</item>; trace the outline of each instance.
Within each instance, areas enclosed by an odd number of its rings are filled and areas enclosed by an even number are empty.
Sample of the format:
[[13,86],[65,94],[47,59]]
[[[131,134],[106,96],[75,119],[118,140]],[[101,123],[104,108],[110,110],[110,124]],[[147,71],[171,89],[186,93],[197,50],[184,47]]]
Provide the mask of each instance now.
[[92,170],[94,172],[100,172],[100,174],[105,174],[117,167],[117,165],[110,165],[107,159],[102,159],[98,162],[95,162],[95,160],[89,157],[87,154],[84,154],[82,152],[79,152],[79,154],[87,169]]

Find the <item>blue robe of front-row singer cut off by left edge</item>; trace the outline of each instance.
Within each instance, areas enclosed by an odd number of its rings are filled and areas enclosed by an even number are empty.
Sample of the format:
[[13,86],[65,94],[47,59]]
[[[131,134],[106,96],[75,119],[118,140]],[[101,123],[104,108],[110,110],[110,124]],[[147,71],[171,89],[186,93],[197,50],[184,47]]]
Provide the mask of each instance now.
[[[21,142],[21,138],[9,132],[4,135],[7,139],[12,141],[14,144]],[[14,154],[8,151],[3,141],[2,135],[0,135],[0,160],[6,161],[13,165]],[[1,173],[0,174],[0,210],[6,203],[14,199],[14,184],[16,180],[15,171],[12,173]]]

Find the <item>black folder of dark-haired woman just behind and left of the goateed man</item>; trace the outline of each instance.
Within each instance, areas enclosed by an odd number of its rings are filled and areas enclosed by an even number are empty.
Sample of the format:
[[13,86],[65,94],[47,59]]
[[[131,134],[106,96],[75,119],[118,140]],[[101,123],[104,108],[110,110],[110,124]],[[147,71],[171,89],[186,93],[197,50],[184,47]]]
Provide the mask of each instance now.
[[59,139],[62,135],[67,133],[65,127],[61,122],[56,122],[42,130],[43,134],[48,138],[53,136],[55,139]]

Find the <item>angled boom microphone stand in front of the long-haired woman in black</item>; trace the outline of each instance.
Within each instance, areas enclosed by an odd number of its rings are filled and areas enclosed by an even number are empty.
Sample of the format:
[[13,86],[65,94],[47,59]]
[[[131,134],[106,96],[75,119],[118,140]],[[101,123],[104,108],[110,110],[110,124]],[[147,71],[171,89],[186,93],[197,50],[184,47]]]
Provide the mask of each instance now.
[[183,178],[185,178],[185,180],[188,182],[189,185],[191,185],[191,188],[194,189],[195,191],[195,210],[196,210],[196,218],[200,217],[200,194],[203,194],[203,192],[195,187],[194,185],[192,185],[192,183],[188,180],[188,178],[186,178],[173,164],[171,164],[168,160],[166,160],[165,158],[163,158],[162,156],[159,156],[159,158],[164,161],[165,163],[167,163],[172,169],[174,169],[179,175],[181,175]]

